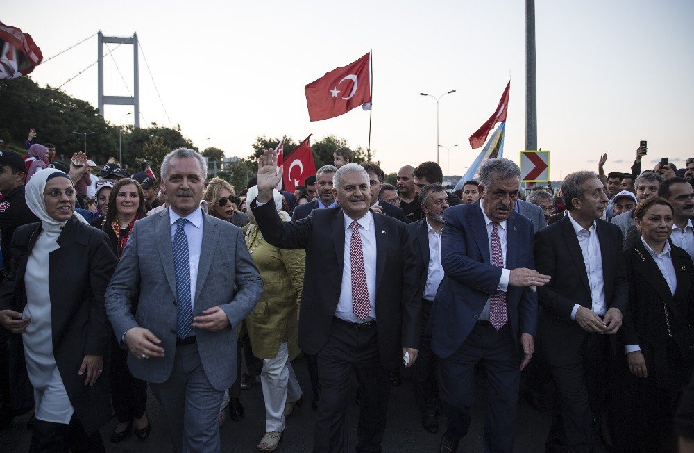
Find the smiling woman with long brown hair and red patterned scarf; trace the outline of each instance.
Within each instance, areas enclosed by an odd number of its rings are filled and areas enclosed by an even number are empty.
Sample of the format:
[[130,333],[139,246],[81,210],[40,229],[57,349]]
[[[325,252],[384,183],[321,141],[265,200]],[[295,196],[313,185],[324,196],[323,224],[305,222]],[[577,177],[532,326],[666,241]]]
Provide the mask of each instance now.
[[[128,245],[135,222],[147,215],[144,202],[142,186],[135,179],[120,179],[110,190],[106,215],[92,222],[92,227],[106,233],[111,251],[118,259]],[[137,305],[133,305],[133,314],[135,311]],[[130,374],[128,351],[118,345],[115,336],[111,340],[111,402],[118,419],[111,443],[121,442],[131,431],[135,431],[139,440],[145,440],[151,431],[146,412],[147,383]]]

